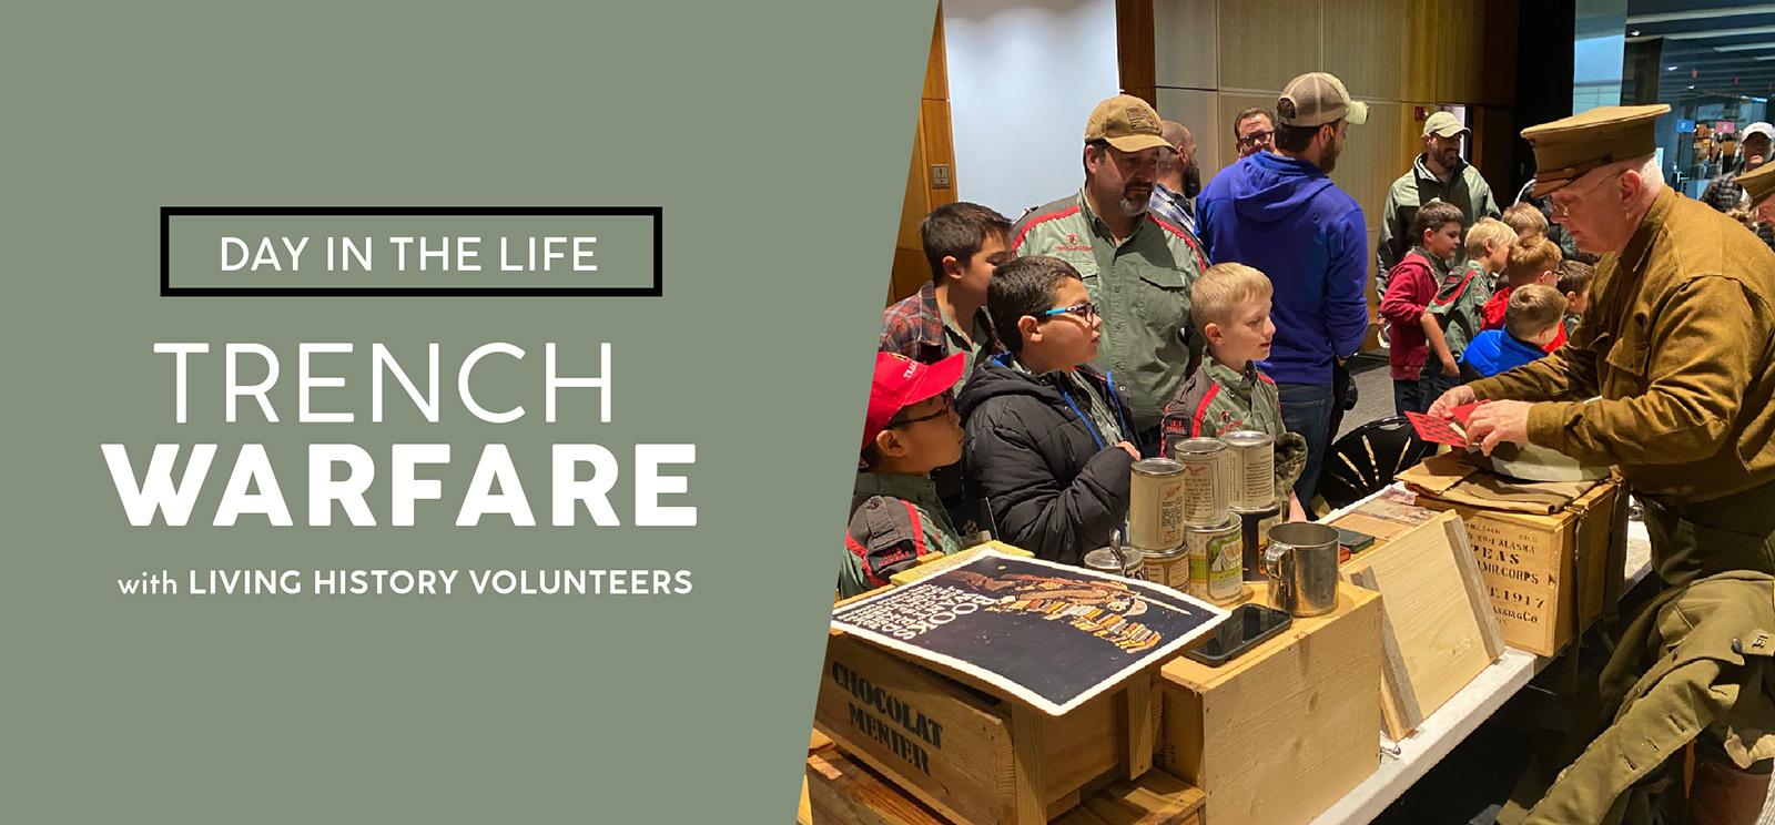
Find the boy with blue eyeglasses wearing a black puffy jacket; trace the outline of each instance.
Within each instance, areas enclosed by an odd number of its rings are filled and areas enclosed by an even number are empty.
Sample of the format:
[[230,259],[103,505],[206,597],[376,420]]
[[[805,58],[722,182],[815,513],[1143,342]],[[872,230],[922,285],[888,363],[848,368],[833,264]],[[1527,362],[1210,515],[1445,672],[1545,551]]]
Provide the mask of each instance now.
[[1088,364],[1102,321],[1058,257],[1019,257],[987,284],[987,314],[1008,350],[962,387],[962,483],[985,499],[998,538],[1038,559],[1081,564],[1127,520],[1140,452],[1113,378]]

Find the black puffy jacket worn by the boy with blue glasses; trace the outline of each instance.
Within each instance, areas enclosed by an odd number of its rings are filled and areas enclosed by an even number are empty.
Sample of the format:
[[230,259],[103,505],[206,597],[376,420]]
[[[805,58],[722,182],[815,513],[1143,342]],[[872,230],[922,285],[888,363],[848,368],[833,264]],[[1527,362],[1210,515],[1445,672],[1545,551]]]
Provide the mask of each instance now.
[[[1127,520],[1134,456],[1104,444],[1086,399],[1061,394],[1061,387],[1076,389],[1054,376],[1017,373],[1006,358],[982,360],[955,401],[966,429],[967,499],[989,500],[1001,541],[1037,559],[1081,564]],[[1124,433],[1132,435],[1127,406],[1109,383],[1090,367],[1077,374],[1109,399]]]

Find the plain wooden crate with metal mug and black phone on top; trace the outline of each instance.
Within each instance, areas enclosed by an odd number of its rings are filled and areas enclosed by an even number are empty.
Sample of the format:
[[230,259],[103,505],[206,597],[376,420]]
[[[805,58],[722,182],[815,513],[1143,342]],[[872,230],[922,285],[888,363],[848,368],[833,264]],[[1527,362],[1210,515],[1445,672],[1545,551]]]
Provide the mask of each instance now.
[[1207,795],[1205,825],[1310,821],[1379,766],[1381,596],[1340,584],[1335,612],[1221,667],[1179,656],[1159,692],[1161,761]]

